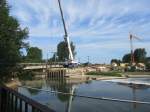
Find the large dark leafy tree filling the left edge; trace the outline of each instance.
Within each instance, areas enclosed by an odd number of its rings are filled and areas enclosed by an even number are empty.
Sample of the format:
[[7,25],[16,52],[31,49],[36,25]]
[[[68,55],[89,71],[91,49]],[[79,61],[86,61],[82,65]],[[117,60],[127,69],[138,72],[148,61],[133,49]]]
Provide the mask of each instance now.
[[0,0],[0,77],[9,76],[21,60],[21,49],[27,46],[24,40],[28,29],[22,29],[14,17],[9,15],[6,0]]

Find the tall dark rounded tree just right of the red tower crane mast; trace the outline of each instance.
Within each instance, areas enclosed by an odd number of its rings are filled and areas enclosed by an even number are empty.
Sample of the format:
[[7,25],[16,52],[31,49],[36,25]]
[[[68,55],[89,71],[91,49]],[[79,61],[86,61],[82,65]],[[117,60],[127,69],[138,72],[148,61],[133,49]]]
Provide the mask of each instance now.
[[144,48],[138,48],[134,51],[134,59],[136,63],[145,63],[146,51]]

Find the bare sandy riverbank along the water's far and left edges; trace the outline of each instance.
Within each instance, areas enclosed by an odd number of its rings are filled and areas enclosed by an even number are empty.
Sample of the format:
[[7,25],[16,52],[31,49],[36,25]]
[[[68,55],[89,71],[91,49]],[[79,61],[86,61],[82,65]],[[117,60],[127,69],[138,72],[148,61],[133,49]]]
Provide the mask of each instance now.
[[[92,72],[93,73],[93,72]],[[115,74],[113,74],[115,73]],[[45,79],[46,75],[35,75],[35,78],[37,79]],[[150,72],[106,72],[105,74],[98,73],[95,75],[95,73],[90,74],[79,74],[79,73],[74,73],[72,75],[69,75],[66,77],[67,79],[70,80],[75,80],[75,82],[84,82],[88,80],[112,80],[112,79],[127,79],[127,78],[150,78]],[[18,85],[20,85],[21,82],[18,78],[15,78],[14,80],[11,80],[7,83],[5,83],[6,86],[15,88]]]

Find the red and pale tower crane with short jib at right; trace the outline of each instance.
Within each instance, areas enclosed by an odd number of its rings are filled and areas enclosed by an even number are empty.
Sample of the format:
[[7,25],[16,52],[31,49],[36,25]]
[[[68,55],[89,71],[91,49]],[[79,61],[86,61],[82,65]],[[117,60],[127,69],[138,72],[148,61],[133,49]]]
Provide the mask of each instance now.
[[136,40],[139,40],[141,41],[141,39],[131,33],[129,33],[129,39],[130,39],[130,48],[131,48],[131,64],[133,65],[135,63],[135,60],[134,60],[134,48],[133,48],[133,39],[136,39]]

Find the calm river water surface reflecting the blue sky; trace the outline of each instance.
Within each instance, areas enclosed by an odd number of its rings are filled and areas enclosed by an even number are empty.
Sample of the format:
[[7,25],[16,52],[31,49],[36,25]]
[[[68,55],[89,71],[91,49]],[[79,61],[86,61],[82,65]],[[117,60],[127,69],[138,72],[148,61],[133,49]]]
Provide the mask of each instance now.
[[[135,79],[129,79],[135,80]],[[138,79],[140,80],[140,79]],[[143,79],[141,79],[143,80]],[[149,82],[150,79],[147,79]],[[79,82],[74,80],[34,80],[22,81],[22,85],[39,89],[62,91],[77,95],[109,97],[127,100],[150,102],[149,86],[130,86],[119,82],[91,81]],[[150,105],[137,103],[121,103],[104,100],[93,100],[81,97],[71,97],[45,91],[37,91],[19,87],[18,91],[57,112],[149,112]]]

